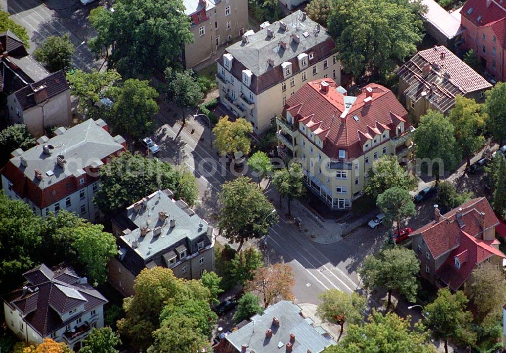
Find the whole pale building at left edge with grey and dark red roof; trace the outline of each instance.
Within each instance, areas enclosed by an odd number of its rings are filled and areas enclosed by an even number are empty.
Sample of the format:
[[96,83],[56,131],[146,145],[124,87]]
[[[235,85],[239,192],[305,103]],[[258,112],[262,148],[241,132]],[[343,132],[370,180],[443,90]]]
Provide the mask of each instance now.
[[1,171],[4,192],[42,217],[64,209],[97,221],[102,215],[93,197],[100,187],[99,169],[126,150],[126,142],[120,135],[112,137],[102,119],[60,127],[55,134],[40,137],[26,151],[12,152]]

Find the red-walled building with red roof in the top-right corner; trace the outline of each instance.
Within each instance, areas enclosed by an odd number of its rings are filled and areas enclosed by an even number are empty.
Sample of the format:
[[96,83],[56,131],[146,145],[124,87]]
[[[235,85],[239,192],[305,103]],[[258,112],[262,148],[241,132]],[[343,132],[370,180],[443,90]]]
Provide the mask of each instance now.
[[463,47],[474,50],[496,81],[506,81],[506,3],[468,0],[460,14],[466,28]]

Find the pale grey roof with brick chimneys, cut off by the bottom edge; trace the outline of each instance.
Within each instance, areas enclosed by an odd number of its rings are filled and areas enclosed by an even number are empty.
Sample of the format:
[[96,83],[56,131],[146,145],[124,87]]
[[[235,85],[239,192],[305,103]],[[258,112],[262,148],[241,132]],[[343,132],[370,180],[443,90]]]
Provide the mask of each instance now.
[[[273,317],[279,319],[279,327],[273,325]],[[319,353],[331,344],[336,344],[323,334],[328,333],[321,327],[314,328],[311,320],[305,319],[301,314],[301,308],[292,302],[283,300],[264,311],[263,315],[255,315],[251,322],[239,330],[225,337],[236,349],[241,351],[243,344],[247,344],[246,352],[256,353],[279,353],[285,351],[285,345],[290,341],[290,333],[295,335],[293,353]],[[270,339],[266,338],[265,332],[272,329]],[[319,331],[319,332],[318,332]],[[328,335],[329,336],[329,335]],[[279,348],[278,344],[282,344]]]

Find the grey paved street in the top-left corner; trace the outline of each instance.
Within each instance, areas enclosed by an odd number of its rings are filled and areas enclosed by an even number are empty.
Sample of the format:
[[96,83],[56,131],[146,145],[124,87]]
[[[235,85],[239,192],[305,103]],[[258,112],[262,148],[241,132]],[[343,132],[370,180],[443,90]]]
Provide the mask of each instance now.
[[77,47],[72,62],[81,70],[99,68],[101,62],[95,60],[86,43],[82,41],[93,37],[88,15],[90,10],[106,5],[104,0],[83,6],[79,0],[0,0],[0,8],[11,14],[11,19],[26,28],[30,37],[32,53],[44,40],[51,36],[70,34],[70,40]]

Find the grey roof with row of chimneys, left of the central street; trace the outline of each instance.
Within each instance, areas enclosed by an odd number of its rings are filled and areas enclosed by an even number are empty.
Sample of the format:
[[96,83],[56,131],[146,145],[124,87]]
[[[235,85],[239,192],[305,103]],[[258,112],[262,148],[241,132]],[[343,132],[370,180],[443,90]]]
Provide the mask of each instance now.
[[[145,199],[145,206],[136,210],[134,204],[113,220],[119,228],[130,230],[124,231],[126,234],[118,239],[118,245],[124,251],[119,261],[134,274],[149,263],[153,263],[150,266],[166,267],[164,258],[170,260],[184,249],[188,249],[188,256],[196,253],[198,242],[203,241],[204,247],[212,242],[213,227],[181,200],[174,200],[172,191],[158,190]],[[164,221],[159,219],[160,211],[167,214]],[[171,219],[176,221],[173,228],[170,226]],[[149,231],[142,236],[141,227],[146,225]],[[153,234],[155,227],[161,227],[161,233],[157,236]],[[136,240],[137,247],[133,245]]]

